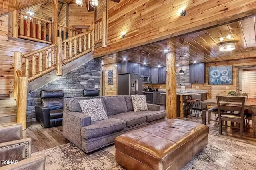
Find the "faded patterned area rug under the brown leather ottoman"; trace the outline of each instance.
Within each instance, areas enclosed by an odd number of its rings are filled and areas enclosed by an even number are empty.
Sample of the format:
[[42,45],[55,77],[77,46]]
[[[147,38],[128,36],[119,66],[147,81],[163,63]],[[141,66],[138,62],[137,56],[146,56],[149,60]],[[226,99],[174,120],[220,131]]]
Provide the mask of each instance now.
[[[46,156],[46,170],[124,170],[115,161],[115,147],[87,155],[72,143],[32,154]],[[254,170],[256,146],[209,135],[208,145],[184,170]]]

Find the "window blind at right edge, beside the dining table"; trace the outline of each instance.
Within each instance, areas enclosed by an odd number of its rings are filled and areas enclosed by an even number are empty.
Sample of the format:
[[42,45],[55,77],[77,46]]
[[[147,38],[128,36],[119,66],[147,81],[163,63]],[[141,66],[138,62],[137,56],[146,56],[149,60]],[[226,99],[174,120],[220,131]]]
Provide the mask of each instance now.
[[244,70],[243,92],[249,93],[249,98],[256,98],[256,69]]

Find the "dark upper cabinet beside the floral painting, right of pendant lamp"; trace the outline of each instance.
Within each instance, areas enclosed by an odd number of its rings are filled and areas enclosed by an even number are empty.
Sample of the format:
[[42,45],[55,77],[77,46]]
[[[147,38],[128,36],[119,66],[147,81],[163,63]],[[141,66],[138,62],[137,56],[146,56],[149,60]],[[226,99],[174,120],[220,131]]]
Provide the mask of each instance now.
[[205,63],[189,65],[189,83],[205,83]]

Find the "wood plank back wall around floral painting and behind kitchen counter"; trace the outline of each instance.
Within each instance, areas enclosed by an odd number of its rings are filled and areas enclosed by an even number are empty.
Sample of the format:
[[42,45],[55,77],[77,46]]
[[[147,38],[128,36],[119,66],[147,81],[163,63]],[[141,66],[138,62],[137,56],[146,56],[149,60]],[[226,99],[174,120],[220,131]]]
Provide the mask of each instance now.
[[[209,85],[208,84],[208,70],[209,67],[216,67],[216,66],[226,66],[232,65],[233,66],[233,84],[232,85]],[[191,88],[186,87],[186,89],[197,89],[198,86],[200,90],[208,90],[208,99],[215,98],[216,95],[228,95],[228,91],[234,90],[236,91],[236,66],[244,66],[244,65],[256,65],[256,59],[244,59],[244,60],[233,60],[233,61],[223,61],[223,62],[215,62],[215,63],[206,63],[206,83],[204,84],[192,84]],[[183,66],[183,69],[186,69],[188,66]],[[229,89],[226,89],[226,87]],[[151,87],[151,86],[150,86]],[[152,85],[152,87],[158,89],[166,89],[166,84],[157,84]]]

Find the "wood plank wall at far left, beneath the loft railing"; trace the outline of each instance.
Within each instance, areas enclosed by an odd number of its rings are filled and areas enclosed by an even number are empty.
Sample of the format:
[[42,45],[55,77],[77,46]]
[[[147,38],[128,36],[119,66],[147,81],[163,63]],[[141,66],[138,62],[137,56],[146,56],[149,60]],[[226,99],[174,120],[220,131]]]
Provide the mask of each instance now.
[[0,94],[9,94],[13,91],[13,55],[14,51],[23,54],[43,48],[48,44],[28,40],[18,41],[13,38],[8,40],[8,15],[0,17]]

